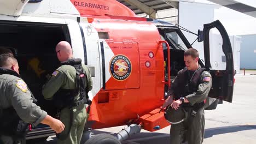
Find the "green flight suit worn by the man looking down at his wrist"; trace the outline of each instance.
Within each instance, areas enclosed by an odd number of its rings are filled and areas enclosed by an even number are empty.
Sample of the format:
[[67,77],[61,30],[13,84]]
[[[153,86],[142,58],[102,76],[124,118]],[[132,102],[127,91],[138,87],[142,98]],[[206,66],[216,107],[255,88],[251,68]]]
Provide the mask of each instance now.
[[[182,71],[182,70],[181,70]],[[179,71],[179,73],[181,73]],[[188,70],[189,71],[189,70]],[[192,73],[191,73],[192,72]],[[178,73],[178,75],[179,75]],[[189,76],[186,78],[191,81],[193,78],[193,71],[189,71]],[[173,83],[177,81],[179,77],[174,79]],[[188,112],[188,118],[179,124],[172,124],[170,130],[170,143],[171,144],[180,144],[184,141],[188,141],[189,144],[201,144],[203,142],[203,136],[205,132],[205,112],[203,108],[199,109],[196,112],[196,115],[193,116],[193,105],[202,103],[203,100],[207,98],[208,93],[212,87],[211,74],[207,71],[202,71],[199,76],[199,85],[191,94],[184,95],[188,99],[189,103],[184,103],[183,109]],[[170,93],[174,92],[174,87],[171,87]],[[185,91],[185,89],[184,89]],[[174,95],[177,99],[178,95]]]

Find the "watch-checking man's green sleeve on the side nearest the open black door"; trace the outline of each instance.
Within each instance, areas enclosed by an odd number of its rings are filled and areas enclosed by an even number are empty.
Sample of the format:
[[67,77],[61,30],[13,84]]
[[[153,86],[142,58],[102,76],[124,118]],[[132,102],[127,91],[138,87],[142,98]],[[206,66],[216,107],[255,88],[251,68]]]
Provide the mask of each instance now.
[[195,103],[201,103],[203,100],[205,100],[208,96],[208,93],[211,90],[212,87],[212,76],[207,71],[203,71],[203,73],[200,76],[201,83],[199,84],[197,91],[187,95],[185,98],[188,99],[189,103],[191,105],[194,105]]

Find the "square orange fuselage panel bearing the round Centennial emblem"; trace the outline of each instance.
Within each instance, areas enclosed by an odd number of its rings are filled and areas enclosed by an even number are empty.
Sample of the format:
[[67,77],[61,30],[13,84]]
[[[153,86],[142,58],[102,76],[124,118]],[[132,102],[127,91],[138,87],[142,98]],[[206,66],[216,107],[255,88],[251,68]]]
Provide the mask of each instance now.
[[106,89],[139,88],[138,44],[114,42],[108,45],[114,49],[115,56],[109,61],[112,77],[106,83]]

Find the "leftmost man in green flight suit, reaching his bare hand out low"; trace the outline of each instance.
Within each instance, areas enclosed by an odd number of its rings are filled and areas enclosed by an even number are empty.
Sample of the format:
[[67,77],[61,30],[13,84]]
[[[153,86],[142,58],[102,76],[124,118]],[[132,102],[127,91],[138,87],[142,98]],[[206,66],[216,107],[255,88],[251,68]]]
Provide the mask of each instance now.
[[[13,144],[23,139],[17,138],[17,132],[25,136],[27,123],[47,124],[56,133],[65,129],[59,119],[34,103],[33,94],[19,75],[18,61],[9,53],[0,55],[0,95],[0,143]],[[25,129],[20,131],[21,127]]]

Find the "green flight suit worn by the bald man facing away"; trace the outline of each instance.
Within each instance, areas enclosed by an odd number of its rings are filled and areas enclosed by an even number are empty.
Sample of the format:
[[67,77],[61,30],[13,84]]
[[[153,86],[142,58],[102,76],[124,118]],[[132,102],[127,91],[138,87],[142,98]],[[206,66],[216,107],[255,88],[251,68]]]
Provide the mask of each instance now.
[[[92,89],[92,79],[89,68],[82,64],[85,74],[88,77],[88,83],[85,83],[85,87]],[[71,65],[61,65],[60,68],[56,69],[52,74],[50,80],[43,86],[43,95],[47,100],[53,100],[53,95],[60,89],[74,89],[75,88],[75,74],[76,70]],[[77,102],[80,97],[79,94],[75,95],[74,102]],[[86,123],[86,109],[85,104],[79,106],[73,106],[73,125],[71,126],[70,133],[67,139],[57,140],[57,143],[61,144],[79,144],[82,139],[84,126]],[[60,112],[60,121],[65,124],[65,130],[62,133],[68,133],[67,128],[69,127],[70,112],[69,108],[65,107]]]

